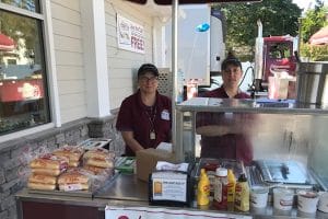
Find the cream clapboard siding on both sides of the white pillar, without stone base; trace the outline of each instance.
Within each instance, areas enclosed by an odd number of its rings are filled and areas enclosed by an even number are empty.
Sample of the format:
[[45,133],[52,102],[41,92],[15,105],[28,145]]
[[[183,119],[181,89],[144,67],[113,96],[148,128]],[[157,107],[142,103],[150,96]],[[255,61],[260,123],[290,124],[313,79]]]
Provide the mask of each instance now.
[[[144,27],[145,54],[118,49],[117,13]],[[51,16],[60,117],[65,124],[87,115],[80,0],[51,0]],[[153,62],[153,19],[140,7],[120,0],[105,0],[105,20],[110,111],[119,107],[121,101],[136,91],[138,68],[143,62]]]

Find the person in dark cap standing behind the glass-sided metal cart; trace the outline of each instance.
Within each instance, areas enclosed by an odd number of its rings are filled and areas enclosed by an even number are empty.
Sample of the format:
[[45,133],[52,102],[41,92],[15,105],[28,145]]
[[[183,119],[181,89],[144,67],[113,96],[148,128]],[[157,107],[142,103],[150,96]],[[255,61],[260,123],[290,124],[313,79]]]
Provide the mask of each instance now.
[[[230,54],[222,62],[222,87],[204,93],[203,96],[250,99],[238,88],[242,76],[241,61]],[[243,124],[236,123],[249,120],[251,116],[246,114],[198,113],[196,131],[201,135],[201,157],[236,159],[249,164],[253,160],[253,147]]]

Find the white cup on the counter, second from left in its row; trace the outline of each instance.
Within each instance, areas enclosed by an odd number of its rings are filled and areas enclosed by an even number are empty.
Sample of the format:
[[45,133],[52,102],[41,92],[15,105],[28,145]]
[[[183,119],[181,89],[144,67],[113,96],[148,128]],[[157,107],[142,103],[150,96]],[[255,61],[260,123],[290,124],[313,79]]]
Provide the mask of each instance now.
[[273,207],[279,210],[291,210],[294,192],[288,188],[273,188]]

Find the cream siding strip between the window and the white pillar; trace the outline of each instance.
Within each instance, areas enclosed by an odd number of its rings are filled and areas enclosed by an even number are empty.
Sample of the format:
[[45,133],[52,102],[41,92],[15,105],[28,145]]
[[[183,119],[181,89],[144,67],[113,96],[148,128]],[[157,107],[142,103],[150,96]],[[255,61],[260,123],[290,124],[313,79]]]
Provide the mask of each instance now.
[[62,123],[86,116],[80,0],[51,0],[55,55]]

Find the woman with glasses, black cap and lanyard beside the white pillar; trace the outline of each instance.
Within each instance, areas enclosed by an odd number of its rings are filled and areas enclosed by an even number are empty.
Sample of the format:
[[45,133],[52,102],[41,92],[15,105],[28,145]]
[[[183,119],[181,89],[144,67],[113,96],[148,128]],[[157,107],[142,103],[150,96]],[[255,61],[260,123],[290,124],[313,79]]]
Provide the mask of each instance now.
[[171,141],[172,102],[157,92],[159,70],[144,64],[138,70],[138,91],[121,103],[116,123],[126,142],[126,155]]

